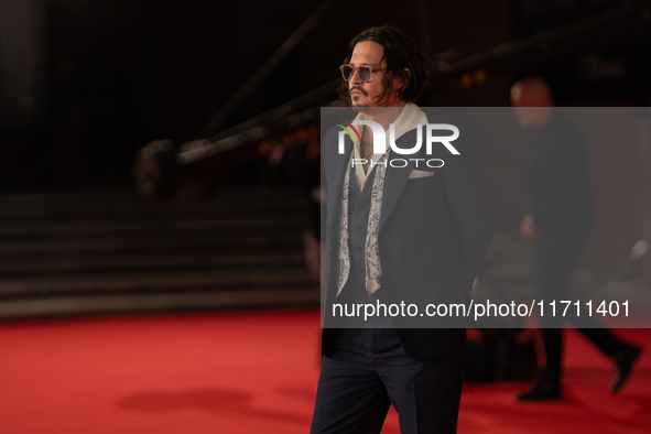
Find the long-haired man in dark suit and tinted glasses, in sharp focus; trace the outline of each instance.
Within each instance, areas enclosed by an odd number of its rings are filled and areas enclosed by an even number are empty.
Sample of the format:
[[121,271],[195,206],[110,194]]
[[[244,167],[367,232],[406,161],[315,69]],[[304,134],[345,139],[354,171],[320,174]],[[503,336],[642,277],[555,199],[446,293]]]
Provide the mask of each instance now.
[[[393,129],[403,150],[432,121],[413,104],[426,83],[425,58],[400,30],[358,34],[341,73],[341,99],[367,124],[341,148],[338,129],[323,138],[325,358],[311,432],[379,433],[393,404],[403,433],[454,433],[463,318],[433,324],[420,314],[337,317],[333,308],[404,303],[423,313],[427,304],[469,301],[492,237],[477,156],[463,131],[454,142],[458,155],[441,143],[430,154],[422,147],[419,155],[401,155],[383,142],[382,152],[373,152],[378,143],[368,121],[388,137]],[[393,164],[398,158],[404,159]]]

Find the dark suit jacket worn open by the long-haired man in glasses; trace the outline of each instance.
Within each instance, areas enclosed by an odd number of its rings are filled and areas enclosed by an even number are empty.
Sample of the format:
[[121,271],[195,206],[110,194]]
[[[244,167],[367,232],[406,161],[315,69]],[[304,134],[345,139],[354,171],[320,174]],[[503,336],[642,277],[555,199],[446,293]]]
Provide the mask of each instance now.
[[[328,310],[335,302],[338,254],[338,220],[341,186],[352,142],[337,153],[337,129],[323,139],[323,163],[327,194],[325,238],[325,316],[323,352],[332,350],[333,330]],[[400,148],[412,148],[416,131],[398,139]],[[423,135],[424,138],[424,135]],[[390,154],[390,159],[441,159],[445,165],[433,176],[410,178],[415,162],[406,167],[387,167],[379,224],[382,287],[388,302],[415,303],[421,312],[428,303],[466,303],[475,275],[492,237],[490,216],[479,162],[471,140],[462,130],[454,142],[460,155],[452,155],[442,144],[434,154]],[[424,140],[423,140],[424,141]],[[420,170],[430,170],[419,164]],[[355,182],[351,177],[350,182]],[[370,188],[369,185],[366,186]],[[324,241],[324,240],[322,240]],[[330,311],[332,312],[332,311]],[[419,360],[433,359],[463,349],[465,328],[423,327],[426,318],[394,317],[393,322],[406,351]],[[414,328],[417,327],[417,328]]]

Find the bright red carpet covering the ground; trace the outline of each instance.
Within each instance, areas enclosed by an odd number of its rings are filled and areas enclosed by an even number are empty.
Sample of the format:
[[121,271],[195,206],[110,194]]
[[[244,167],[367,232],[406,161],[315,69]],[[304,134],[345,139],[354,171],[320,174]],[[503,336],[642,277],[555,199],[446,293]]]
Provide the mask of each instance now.
[[[609,360],[569,330],[566,400],[468,383],[459,433],[650,433],[651,332],[621,335],[647,350],[619,394]],[[307,433],[318,336],[316,311],[0,324],[0,433]]]

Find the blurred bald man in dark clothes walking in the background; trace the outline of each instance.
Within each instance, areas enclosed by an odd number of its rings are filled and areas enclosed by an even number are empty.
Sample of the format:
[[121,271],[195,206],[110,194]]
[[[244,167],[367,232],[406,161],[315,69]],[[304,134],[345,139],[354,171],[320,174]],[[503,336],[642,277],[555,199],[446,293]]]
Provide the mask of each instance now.
[[[528,175],[528,215],[520,232],[535,242],[538,299],[572,300],[568,286],[583,246],[593,227],[587,144],[581,130],[553,109],[552,93],[539,77],[528,77],[511,88],[511,102],[520,124],[531,130]],[[573,325],[601,351],[614,358],[612,392],[627,380],[640,348],[628,345],[595,317],[568,316]],[[542,315],[546,366],[536,382],[519,393],[521,401],[558,400],[563,316]]]

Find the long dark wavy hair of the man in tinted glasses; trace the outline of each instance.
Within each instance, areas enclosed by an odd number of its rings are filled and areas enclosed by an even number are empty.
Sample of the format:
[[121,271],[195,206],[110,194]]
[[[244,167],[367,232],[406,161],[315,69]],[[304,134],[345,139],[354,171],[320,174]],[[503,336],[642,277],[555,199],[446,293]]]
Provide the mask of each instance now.
[[[427,85],[427,61],[413,40],[402,30],[392,25],[366,29],[348,44],[349,52],[348,57],[344,61],[345,64],[350,62],[355,45],[362,41],[376,42],[384,48],[383,58],[387,59],[387,74],[383,78],[384,91],[378,97],[378,101],[384,100],[395,90],[393,77],[400,77],[406,84],[400,90],[400,97],[406,102],[416,101]],[[404,68],[411,70],[411,76]],[[341,105],[350,106],[348,83],[343,78],[338,94]]]

